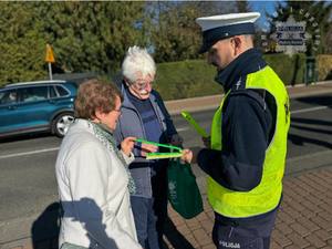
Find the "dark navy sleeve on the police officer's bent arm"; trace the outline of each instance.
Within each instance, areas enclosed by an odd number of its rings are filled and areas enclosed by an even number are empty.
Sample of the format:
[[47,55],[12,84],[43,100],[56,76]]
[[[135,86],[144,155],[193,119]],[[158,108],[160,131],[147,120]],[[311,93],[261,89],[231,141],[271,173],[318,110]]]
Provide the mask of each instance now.
[[200,151],[197,163],[214,180],[237,191],[249,191],[262,177],[271,129],[271,112],[251,90],[230,94],[222,114],[222,149]]

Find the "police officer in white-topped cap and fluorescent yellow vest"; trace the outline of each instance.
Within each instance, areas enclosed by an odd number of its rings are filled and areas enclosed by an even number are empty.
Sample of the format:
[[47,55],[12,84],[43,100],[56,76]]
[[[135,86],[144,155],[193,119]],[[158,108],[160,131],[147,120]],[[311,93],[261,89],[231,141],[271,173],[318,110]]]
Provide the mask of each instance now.
[[196,20],[203,30],[200,52],[208,53],[218,71],[216,81],[225,90],[210,145],[197,156],[208,175],[217,248],[269,248],[281,201],[289,97],[282,81],[253,49],[259,17],[250,12]]

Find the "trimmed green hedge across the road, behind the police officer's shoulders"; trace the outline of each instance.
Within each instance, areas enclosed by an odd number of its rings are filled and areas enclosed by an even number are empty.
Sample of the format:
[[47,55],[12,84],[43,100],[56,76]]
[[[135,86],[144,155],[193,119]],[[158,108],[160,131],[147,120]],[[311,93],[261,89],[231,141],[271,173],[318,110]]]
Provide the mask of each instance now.
[[[264,54],[268,64],[286,84],[303,82],[305,55]],[[157,65],[155,89],[164,100],[178,100],[222,93],[215,82],[216,69],[204,60],[160,63]]]

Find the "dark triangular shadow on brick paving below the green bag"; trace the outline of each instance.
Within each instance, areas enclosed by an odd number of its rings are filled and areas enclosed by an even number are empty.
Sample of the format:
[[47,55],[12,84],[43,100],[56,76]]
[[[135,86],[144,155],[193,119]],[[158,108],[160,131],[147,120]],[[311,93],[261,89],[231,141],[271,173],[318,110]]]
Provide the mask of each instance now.
[[[168,217],[165,226],[165,236],[169,243],[176,249],[194,249],[191,243],[177,230]],[[164,245],[164,248],[167,249],[168,247]]]

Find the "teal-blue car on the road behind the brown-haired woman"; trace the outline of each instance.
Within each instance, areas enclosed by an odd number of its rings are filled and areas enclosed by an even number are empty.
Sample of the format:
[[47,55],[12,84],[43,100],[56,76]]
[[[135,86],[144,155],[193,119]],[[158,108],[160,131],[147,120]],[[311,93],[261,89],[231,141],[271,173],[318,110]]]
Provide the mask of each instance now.
[[63,137],[74,121],[77,85],[69,81],[39,81],[0,87],[0,137],[51,132]]

